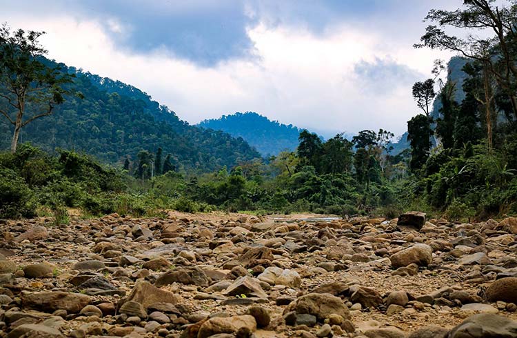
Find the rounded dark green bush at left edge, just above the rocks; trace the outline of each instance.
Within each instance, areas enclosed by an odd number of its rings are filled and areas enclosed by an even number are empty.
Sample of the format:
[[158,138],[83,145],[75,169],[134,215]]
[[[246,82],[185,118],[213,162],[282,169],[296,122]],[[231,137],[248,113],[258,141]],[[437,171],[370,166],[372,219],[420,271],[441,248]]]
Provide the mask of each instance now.
[[0,168],[0,218],[33,217],[36,207],[27,183],[13,170]]

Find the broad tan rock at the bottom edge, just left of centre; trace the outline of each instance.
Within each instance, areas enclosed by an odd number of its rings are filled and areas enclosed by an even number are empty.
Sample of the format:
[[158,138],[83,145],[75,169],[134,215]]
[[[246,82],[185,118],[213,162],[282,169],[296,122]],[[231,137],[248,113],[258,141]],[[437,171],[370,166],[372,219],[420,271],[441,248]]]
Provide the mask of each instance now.
[[211,318],[201,325],[197,338],[207,338],[220,333],[236,334],[239,330],[256,331],[256,321],[253,316],[232,316],[226,318]]

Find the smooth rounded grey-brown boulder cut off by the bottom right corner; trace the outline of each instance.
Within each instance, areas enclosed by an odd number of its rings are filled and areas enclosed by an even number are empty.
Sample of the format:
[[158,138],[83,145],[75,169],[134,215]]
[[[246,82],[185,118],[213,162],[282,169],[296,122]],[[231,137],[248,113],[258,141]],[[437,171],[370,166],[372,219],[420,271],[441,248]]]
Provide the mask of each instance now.
[[449,332],[449,338],[515,338],[517,321],[491,313],[465,319]]

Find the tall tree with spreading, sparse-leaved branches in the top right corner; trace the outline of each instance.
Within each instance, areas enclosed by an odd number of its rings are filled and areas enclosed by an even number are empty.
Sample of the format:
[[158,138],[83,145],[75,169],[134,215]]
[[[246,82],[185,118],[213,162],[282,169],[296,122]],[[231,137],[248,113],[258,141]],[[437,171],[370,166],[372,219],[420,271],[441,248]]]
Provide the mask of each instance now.
[[[460,52],[463,56],[480,61],[498,85],[505,90],[517,118],[517,8],[515,1],[464,0],[463,9],[430,10],[425,17],[436,25],[429,25],[415,48],[429,47]],[[507,3],[509,2],[509,6]],[[456,37],[444,28],[458,28],[467,32]],[[479,32],[491,32],[479,34]]]

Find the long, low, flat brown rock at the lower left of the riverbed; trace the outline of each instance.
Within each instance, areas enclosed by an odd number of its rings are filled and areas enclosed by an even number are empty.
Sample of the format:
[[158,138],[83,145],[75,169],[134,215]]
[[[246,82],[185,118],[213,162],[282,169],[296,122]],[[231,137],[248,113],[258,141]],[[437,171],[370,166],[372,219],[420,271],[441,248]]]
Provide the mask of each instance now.
[[77,313],[90,303],[90,297],[71,292],[26,292],[21,295],[23,308],[53,312],[66,310]]

